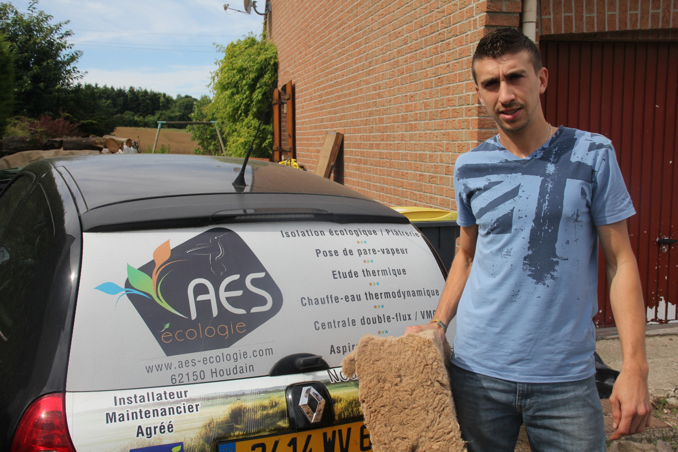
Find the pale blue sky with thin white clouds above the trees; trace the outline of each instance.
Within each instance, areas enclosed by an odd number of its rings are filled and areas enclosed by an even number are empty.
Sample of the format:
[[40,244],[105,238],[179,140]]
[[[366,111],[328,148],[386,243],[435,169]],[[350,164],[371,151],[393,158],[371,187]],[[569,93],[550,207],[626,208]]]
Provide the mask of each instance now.
[[[28,0],[2,0],[22,13]],[[170,96],[211,96],[210,77],[223,57],[214,43],[227,45],[252,32],[263,16],[242,14],[242,0],[41,0],[37,9],[54,16],[81,50],[76,66],[83,83],[145,88]],[[264,0],[256,8],[263,12]]]

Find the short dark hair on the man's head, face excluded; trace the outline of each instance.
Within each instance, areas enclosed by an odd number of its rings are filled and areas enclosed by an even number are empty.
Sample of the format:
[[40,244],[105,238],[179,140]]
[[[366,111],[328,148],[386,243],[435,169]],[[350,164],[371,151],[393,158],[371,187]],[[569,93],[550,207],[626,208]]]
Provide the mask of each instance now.
[[496,28],[487,33],[480,41],[471,60],[471,74],[475,79],[475,62],[485,58],[497,59],[507,54],[517,54],[525,50],[532,60],[534,73],[542,68],[542,56],[532,39],[515,28]]

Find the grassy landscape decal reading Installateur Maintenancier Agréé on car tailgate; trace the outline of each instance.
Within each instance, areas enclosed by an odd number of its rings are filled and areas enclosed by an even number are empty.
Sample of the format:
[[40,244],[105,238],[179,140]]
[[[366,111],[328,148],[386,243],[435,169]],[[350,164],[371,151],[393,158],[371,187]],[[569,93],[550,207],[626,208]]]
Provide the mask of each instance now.
[[[66,420],[79,452],[202,452],[214,450],[217,443],[257,436],[268,436],[266,440],[273,441],[277,435],[285,438],[279,452],[292,451],[288,446],[292,441],[287,438],[290,424],[285,402],[285,388],[290,384],[321,382],[330,392],[338,424],[361,419],[357,382],[347,379],[332,383],[330,371],[294,378],[258,377],[136,390],[67,392]],[[359,433],[363,436],[361,450],[370,450],[365,447],[369,445],[365,428],[360,424],[353,430],[355,438]],[[346,450],[337,440],[343,435],[343,443],[346,429],[336,426],[323,431],[326,443],[321,450]],[[308,433],[299,434],[302,443]],[[322,438],[321,434],[314,440]]]

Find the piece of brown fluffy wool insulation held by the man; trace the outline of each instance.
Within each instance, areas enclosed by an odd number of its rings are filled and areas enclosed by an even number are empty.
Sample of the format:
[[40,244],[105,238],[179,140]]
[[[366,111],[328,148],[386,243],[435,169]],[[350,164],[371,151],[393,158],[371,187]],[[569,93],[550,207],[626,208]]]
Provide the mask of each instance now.
[[435,331],[364,335],[342,361],[358,396],[374,452],[466,451],[454,411],[450,344]]

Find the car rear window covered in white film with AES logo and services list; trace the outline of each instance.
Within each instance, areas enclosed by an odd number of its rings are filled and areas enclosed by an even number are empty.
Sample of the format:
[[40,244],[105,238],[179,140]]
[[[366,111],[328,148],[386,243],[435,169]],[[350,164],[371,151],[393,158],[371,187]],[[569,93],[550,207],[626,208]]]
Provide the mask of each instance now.
[[410,224],[239,223],[85,232],[69,391],[340,366],[364,334],[429,321],[445,281]]

